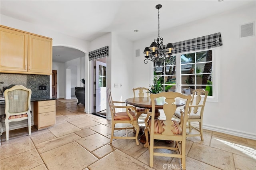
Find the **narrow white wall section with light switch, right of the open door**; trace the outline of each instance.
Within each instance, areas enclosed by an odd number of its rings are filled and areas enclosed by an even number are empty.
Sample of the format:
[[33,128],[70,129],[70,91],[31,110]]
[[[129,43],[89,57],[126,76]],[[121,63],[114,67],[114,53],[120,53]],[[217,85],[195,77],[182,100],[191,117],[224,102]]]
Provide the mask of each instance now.
[[[132,48],[133,42],[112,33],[111,90],[113,100],[125,101],[133,97],[134,82],[132,80],[136,67],[134,67],[135,55]],[[115,84],[118,87],[115,87]]]

